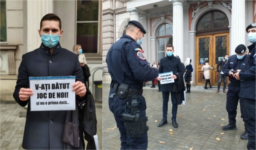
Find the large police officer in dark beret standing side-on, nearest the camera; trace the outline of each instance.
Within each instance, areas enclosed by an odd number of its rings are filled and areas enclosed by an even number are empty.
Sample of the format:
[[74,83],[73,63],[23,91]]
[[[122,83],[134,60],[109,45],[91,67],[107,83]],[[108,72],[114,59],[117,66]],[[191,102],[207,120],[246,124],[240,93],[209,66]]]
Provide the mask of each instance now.
[[146,150],[148,146],[146,101],[143,82],[157,78],[158,70],[150,67],[141,48],[146,30],[137,21],[129,21],[126,34],[114,43],[106,57],[111,75],[109,109],[120,131],[121,150]]

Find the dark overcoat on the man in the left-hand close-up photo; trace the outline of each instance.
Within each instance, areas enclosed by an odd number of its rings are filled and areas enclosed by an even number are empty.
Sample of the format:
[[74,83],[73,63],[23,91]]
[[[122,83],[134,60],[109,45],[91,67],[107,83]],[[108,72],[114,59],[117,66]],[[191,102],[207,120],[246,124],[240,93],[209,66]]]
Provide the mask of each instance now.
[[[62,48],[60,43],[55,46],[51,54],[49,48],[42,43],[38,49],[22,56],[13,93],[19,105],[28,104],[22,147],[30,150],[63,150],[62,139],[67,111],[31,111],[30,99],[25,102],[19,99],[20,89],[30,88],[29,77],[39,76],[76,76],[76,81],[84,83],[78,56]],[[76,95],[76,100],[82,99]]]

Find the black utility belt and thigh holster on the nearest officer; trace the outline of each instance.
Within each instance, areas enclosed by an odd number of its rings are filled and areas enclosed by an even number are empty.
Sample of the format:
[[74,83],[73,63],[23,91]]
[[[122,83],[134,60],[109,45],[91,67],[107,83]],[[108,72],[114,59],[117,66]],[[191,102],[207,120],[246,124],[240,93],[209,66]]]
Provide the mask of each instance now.
[[[127,126],[127,135],[132,138],[141,137],[145,132],[149,130],[147,126],[148,118],[142,118],[140,116],[140,111],[138,110],[137,95],[141,95],[143,90],[129,88],[127,84],[116,84],[111,82],[110,88],[114,88],[113,93],[109,98],[113,98],[116,94],[122,100],[130,98],[131,107],[128,106],[128,102],[125,105],[125,113],[122,116],[124,124]],[[127,107],[131,108],[131,113],[127,113]]]

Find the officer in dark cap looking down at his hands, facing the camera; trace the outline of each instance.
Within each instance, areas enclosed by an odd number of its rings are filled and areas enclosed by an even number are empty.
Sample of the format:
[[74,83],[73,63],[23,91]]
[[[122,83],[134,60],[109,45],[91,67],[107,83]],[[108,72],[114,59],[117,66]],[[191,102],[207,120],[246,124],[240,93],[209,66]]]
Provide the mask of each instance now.
[[[228,114],[228,122],[226,126],[223,126],[223,130],[236,130],[236,114],[237,114],[237,105],[240,99],[240,111],[241,118],[244,118],[244,104],[243,99],[240,98],[240,80],[236,80],[233,74],[238,69],[243,70],[249,65],[249,56],[246,54],[246,47],[243,44],[240,44],[235,49],[235,55],[229,57],[227,62],[224,64],[222,69],[225,76],[229,76],[230,83],[228,84],[228,91],[226,93],[226,111]],[[232,71],[229,71],[232,70]],[[248,139],[247,129],[245,128],[245,132],[240,136],[241,139]]]

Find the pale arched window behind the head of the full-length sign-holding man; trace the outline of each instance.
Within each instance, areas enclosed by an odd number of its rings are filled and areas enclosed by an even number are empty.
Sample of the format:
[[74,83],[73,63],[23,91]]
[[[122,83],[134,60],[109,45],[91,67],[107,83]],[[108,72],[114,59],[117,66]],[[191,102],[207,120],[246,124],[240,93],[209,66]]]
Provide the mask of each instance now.
[[172,44],[172,27],[165,23],[157,31],[157,61],[164,58],[167,44]]

